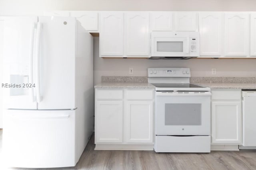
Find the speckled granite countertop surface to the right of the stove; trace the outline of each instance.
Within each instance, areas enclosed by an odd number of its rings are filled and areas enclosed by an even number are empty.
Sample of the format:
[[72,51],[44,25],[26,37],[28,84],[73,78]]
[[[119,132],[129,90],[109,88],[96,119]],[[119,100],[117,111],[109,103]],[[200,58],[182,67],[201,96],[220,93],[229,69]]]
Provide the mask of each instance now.
[[256,83],[204,83],[196,82],[201,86],[210,87],[211,89],[256,89]]

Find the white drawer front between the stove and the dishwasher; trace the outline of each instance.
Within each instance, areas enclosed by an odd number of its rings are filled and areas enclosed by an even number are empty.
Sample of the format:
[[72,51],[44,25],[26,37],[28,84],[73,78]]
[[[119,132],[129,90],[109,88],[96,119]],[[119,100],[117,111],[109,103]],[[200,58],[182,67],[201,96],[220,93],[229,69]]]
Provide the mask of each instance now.
[[212,90],[212,100],[241,100],[241,90]]

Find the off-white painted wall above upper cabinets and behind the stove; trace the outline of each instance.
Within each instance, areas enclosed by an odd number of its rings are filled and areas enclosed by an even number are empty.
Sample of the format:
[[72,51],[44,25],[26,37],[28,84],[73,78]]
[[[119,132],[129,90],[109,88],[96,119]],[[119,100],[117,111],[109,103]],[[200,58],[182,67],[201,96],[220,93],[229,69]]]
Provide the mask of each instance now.
[[[256,11],[256,0],[0,0],[0,16],[43,15],[45,10]],[[0,68],[1,40],[0,35]],[[129,67],[134,68],[133,76],[146,76],[148,67],[170,66],[190,67],[192,76],[212,76],[211,68],[216,68],[216,76],[256,77],[256,59],[101,59],[99,40],[96,37],[94,41],[94,84],[101,76],[130,76]]]

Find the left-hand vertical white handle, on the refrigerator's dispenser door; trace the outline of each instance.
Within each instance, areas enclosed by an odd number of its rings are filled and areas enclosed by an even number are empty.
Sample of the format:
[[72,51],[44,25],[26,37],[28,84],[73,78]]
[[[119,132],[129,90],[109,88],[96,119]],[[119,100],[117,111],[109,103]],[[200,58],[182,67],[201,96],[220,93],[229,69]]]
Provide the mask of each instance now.
[[[30,63],[29,63],[29,79],[28,79],[28,83],[29,84],[33,84],[33,58],[34,58],[34,33],[35,33],[35,27],[36,24],[33,23],[32,24],[32,29],[31,29],[31,35],[30,35]],[[34,102],[34,89],[30,88],[29,90],[29,95],[30,98],[32,100],[32,102]]]

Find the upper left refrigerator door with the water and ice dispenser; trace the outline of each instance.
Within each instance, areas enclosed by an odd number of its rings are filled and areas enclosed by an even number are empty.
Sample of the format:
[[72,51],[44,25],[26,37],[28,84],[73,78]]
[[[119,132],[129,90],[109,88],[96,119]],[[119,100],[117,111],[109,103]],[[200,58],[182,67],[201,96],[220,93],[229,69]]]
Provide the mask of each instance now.
[[34,40],[37,17],[4,20],[4,107],[37,109],[33,81]]

